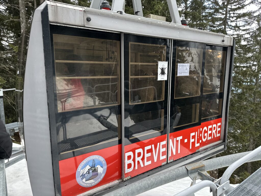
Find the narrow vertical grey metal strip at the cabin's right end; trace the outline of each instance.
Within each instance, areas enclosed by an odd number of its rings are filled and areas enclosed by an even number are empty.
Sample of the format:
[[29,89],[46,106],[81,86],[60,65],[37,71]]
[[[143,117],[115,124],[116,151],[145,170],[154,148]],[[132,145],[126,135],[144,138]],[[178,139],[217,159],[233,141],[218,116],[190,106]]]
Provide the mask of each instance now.
[[226,64],[226,75],[225,75],[225,81],[224,81],[224,98],[223,98],[223,108],[222,108],[222,125],[221,125],[221,137],[220,139],[224,139],[224,131],[226,129],[225,127],[225,118],[226,118],[226,103],[227,103],[227,93],[228,93],[228,76],[229,76],[229,66],[230,66],[230,57],[231,57],[231,47],[228,47],[227,51],[227,64]]

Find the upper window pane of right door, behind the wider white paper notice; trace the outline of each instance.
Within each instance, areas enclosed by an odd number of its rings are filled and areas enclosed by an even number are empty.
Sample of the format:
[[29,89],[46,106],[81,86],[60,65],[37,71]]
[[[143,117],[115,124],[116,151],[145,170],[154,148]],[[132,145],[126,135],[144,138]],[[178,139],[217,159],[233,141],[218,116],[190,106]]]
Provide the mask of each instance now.
[[[203,49],[177,47],[175,99],[200,95]],[[189,64],[187,76],[178,76],[178,64]]]

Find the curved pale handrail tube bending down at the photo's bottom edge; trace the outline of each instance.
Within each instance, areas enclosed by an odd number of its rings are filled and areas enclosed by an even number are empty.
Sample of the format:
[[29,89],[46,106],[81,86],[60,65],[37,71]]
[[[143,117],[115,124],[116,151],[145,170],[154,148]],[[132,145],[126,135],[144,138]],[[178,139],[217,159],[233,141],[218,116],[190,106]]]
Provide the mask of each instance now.
[[212,191],[212,195],[216,196],[216,189],[217,189],[217,185],[215,185],[214,182],[211,182],[209,180],[203,180],[201,182],[198,182],[196,184],[194,184],[191,187],[186,188],[185,190],[175,194],[175,196],[188,196],[188,195],[192,195],[193,193],[205,188],[205,187],[210,187],[211,191]]

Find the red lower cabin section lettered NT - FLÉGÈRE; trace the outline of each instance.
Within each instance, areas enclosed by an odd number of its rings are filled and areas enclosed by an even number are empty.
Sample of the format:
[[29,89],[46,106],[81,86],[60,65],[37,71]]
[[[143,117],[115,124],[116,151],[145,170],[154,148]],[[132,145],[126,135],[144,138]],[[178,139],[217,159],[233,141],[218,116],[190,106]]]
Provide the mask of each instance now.
[[169,160],[176,160],[192,154],[200,147],[219,141],[220,137],[221,118],[171,133],[169,134]]

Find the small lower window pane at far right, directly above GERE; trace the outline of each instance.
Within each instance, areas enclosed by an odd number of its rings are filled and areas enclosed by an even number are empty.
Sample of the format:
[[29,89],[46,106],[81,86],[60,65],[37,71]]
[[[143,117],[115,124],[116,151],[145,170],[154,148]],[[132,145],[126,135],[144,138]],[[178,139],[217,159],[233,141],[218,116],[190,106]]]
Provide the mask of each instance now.
[[203,119],[220,115],[222,111],[222,100],[223,99],[212,99],[202,101],[201,118]]

